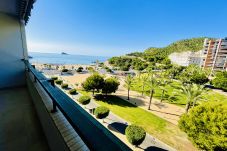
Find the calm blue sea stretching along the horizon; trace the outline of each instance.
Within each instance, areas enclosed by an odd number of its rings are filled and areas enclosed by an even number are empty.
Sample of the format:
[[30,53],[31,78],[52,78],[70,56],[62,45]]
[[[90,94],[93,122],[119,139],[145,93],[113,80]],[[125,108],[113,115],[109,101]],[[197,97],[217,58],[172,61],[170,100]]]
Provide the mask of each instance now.
[[48,63],[48,64],[93,64],[97,60],[99,62],[105,62],[110,57],[104,56],[86,56],[86,55],[74,55],[74,54],[61,54],[61,53],[40,53],[29,52],[31,57],[29,62],[31,63]]

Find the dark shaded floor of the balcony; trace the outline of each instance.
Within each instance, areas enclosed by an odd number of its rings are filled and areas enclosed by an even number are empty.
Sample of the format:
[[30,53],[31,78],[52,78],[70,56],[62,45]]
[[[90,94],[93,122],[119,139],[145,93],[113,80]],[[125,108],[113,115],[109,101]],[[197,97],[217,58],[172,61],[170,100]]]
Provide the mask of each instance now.
[[0,150],[49,150],[27,88],[0,90]]

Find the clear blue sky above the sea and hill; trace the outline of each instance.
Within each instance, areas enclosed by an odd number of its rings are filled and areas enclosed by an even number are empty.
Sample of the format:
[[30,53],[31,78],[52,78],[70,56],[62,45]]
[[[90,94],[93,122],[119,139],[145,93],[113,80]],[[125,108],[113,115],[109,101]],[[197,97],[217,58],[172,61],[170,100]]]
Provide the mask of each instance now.
[[227,36],[227,0],[37,0],[29,51],[113,56]]

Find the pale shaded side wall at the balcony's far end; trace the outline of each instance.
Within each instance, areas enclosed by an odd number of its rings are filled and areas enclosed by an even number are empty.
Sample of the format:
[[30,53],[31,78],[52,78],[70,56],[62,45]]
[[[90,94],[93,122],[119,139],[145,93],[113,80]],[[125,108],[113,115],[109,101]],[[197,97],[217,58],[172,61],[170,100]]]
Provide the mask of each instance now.
[[25,85],[25,29],[18,19],[0,13],[0,89]]

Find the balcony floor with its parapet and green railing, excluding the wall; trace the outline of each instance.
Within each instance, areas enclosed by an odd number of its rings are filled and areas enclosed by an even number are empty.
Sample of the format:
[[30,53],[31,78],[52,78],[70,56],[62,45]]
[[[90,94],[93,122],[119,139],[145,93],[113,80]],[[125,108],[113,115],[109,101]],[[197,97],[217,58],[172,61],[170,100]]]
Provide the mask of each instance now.
[[0,91],[0,150],[131,150],[28,62],[25,75]]

